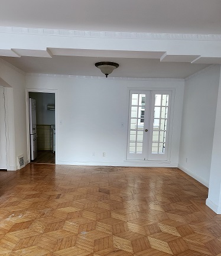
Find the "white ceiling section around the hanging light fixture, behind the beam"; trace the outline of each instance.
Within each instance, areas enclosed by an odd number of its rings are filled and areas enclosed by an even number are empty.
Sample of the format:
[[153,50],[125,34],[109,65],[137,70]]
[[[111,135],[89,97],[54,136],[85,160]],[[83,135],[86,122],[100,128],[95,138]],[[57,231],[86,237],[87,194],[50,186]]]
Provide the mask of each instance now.
[[[2,57],[15,67],[27,73],[72,74],[77,76],[104,76],[95,67],[101,57],[53,56],[41,57]],[[159,77],[186,78],[207,67],[207,64],[165,63],[158,59],[108,58],[108,61],[119,63],[118,69],[109,75],[115,77]]]

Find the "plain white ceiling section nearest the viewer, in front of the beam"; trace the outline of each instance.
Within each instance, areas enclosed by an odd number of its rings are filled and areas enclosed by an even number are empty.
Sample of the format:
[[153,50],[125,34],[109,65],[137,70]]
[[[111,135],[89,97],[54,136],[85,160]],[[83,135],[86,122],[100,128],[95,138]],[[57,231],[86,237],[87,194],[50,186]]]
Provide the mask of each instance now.
[[221,34],[220,0],[1,0],[1,26]]

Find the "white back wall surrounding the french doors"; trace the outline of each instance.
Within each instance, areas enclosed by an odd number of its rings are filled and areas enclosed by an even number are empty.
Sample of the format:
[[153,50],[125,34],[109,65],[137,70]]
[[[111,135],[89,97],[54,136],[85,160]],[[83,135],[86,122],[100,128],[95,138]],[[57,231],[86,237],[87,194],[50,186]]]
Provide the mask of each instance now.
[[[123,80],[27,75],[27,88],[58,90],[57,164],[176,166],[180,142],[183,80]],[[176,88],[171,163],[125,161],[129,88]],[[121,127],[121,124],[124,127]],[[95,152],[95,156],[92,153]],[[106,157],[102,153],[106,153]]]

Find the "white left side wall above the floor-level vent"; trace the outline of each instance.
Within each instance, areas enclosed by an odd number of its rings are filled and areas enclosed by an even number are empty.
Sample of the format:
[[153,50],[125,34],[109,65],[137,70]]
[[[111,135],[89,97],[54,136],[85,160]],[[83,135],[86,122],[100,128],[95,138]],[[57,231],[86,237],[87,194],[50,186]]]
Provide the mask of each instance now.
[[[27,128],[26,128],[26,105],[25,105],[25,75],[8,66],[3,60],[0,61],[0,77],[11,88],[6,91],[6,114],[10,143],[8,152],[8,170],[17,170],[17,157],[24,154],[27,161]],[[4,86],[4,85],[3,85]]]

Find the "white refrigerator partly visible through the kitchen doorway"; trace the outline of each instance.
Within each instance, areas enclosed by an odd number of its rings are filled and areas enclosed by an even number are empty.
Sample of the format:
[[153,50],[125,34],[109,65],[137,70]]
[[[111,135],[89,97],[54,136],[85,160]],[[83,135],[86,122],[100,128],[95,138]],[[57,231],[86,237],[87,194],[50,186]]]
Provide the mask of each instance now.
[[29,99],[30,116],[30,142],[31,142],[31,160],[37,157],[37,130],[36,130],[36,105],[35,99]]

